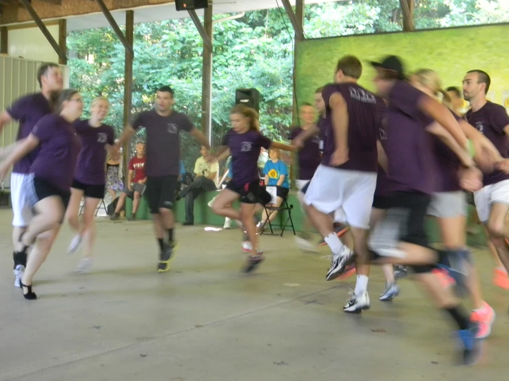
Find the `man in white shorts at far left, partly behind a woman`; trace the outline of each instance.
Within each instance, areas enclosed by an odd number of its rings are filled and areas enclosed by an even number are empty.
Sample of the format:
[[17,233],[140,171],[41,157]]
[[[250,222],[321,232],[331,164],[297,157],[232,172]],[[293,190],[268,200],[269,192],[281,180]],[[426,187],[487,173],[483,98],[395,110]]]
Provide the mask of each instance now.
[[[63,76],[59,65],[56,63],[43,63],[37,72],[37,80],[41,86],[41,92],[29,94],[16,100],[10,107],[3,111],[0,116],[0,133],[3,127],[11,121],[19,122],[17,141],[27,138],[34,125],[43,116],[51,113],[48,102],[52,91],[63,88]],[[22,160],[14,164],[10,176],[10,195],[12,198],[12,243],[14,245],[14,285],[20,287],[21,276],[26,267],[27,254],[23,251],[19,237],[25,232],[32,211],[28,204],[26,193],[23,191],[23,183],[28,177],[28,170],[37,157],[39,149],[26,155]]]

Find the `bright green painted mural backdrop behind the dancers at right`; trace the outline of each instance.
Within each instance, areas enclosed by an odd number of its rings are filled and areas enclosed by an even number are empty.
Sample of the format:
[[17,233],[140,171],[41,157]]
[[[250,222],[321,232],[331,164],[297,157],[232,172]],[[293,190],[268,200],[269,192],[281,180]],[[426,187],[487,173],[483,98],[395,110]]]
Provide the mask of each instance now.
[[509,25],[490,25],[302,41],[297,45],[295,65],[297,99],[311,102],[315,89],[333,81],[337,59],[346,54],[361,59],[360,85],[373,91],[375,72],[368,61],[395,54],[403,58],[407,72],[437,71],[443,87],[461,87],[468,70],[484,70],[492,79],[489,96],[502,103],[503,93],[509,90],[508,35]]

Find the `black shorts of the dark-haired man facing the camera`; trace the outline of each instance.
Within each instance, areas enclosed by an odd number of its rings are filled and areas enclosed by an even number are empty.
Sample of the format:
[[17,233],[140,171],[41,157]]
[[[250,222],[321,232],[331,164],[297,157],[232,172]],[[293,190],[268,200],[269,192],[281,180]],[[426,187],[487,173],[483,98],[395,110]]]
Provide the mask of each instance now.
[[145,197],[150,213],[156,215],[159,209],[173,209],[177,175],[147,176]]

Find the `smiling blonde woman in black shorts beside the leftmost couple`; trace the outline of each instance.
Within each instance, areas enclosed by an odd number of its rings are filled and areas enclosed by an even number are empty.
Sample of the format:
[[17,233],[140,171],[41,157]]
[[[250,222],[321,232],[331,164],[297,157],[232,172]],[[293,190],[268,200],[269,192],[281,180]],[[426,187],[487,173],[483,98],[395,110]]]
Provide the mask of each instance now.
[[[75,233],[69,246],[69,254],[78,251],[82,241],[85,243],[83,258],[76,272],[90,272],[92,269],[92,248],[96,235],[94,217],[97,206],[105,195],[106,153],[114,158],[118,156],[114,148],[115,131],[113,127],[103,123],[109,109],[110,102],[103,96],[97,97],[90,105],[90,119],[74,122],[74,128],[81,140],[81,151],[66,213],[67,221]],[[85,204],[83,221],[80,224],[79,210],[83,197]]]

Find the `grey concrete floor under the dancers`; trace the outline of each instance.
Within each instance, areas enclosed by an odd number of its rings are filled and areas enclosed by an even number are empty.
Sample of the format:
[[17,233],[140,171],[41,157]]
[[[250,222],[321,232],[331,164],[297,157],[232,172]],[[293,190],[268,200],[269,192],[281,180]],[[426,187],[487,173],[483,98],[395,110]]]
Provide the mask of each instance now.
[[65,227],[30,302],[12,285],[10,210],[0,210],[0,380],[507,379],[509,299],[490,283],[486,252],[476,257],[497,321],[481,362],[457,367],[452,326],[411,281],[382,303],[375,268],[371,310],[351,316],[353,279],[324,281],[329,262],[291,235],[262,237],[267,261],[245,276],[238,231],[179,226],[172,271],[158,274],[148,221],[97,222],[95,272],[72,274]]

